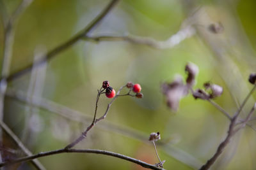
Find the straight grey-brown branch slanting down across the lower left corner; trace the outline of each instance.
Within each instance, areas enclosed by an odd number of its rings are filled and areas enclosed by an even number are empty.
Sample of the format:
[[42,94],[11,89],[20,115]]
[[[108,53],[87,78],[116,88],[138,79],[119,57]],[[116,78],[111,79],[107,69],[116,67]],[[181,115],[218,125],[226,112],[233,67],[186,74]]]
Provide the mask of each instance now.
[[[4,131],[10,136],[10,138],[15,141],[15,143],[19,146],[19,148],[24,152],[26,155],[31,156],[33,155],[26,146],[23,145],[23,143],[20,141],[20,139],[12,132],[12,130],[4,124],[3,121],[0,120],[0,126]],[[37,159],[31,160],[31,163],[36,167],[36,169],[45,169],[45,167],[39,162]]]

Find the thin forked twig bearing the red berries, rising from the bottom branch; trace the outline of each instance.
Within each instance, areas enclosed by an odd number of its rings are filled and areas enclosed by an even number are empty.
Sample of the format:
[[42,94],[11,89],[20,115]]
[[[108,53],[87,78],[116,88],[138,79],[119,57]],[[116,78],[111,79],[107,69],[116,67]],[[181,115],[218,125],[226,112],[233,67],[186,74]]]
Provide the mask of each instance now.
[[111,100],[111,102],[108,104],[108,107],[104,113],[104,115],[102,115],[102,117],[95,119],[96,117],[96,111],[97,111],[97,103],[99,101],[98,97],[100,94],[100,91],[98,92],[98,96],[97,96],[97,101],[96,101],[96,109],[95,109],[95,114],[94,114],[94,118],[92,121],[92,124],[90,124],[86,130],[81,134],[81,136],[79,136],[79,138],[77,138],[75,141],[73,141],[72,143],[70,143],[69,145],[67,145],[65,148],[73,148],[75,145],[77,145],[77,143],[79,143],[80,141],[82,141],[84,138],[86,138],[88,131],[90,131],[92,129],[92,127],[97,124],[98,122],[100,122],[100,120],[103,120],[104,118],[106,118],[109,108],[111,106],[111,104],[113,103],[113,101],[115,101],[115,99],[118,97],[118,95],[120,94],[120,91],[126,87],[126,85],[124,85],[123,87],[120,87],[120,89],[118,90],[118,92],[116,93],[116,96]]

